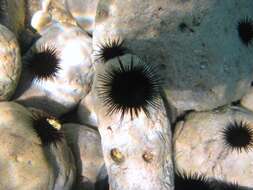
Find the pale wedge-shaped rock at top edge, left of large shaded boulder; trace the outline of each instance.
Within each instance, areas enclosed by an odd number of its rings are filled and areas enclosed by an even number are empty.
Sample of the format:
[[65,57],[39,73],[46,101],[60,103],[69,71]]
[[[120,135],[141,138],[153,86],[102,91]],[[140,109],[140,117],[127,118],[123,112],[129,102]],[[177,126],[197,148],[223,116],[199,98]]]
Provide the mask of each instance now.
[[95,27],[95,16],[99,0],[65,0],[65,6],[76,19],[78,25],[92,33]]

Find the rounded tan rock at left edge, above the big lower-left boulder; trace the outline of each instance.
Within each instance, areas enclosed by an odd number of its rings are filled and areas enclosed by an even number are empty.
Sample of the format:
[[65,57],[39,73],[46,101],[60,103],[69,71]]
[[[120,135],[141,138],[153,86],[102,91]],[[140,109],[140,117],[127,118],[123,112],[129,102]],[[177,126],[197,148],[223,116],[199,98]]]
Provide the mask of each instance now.
[[0,25],[0,101],[13,95],[21,73],[20,50],[15,35]]

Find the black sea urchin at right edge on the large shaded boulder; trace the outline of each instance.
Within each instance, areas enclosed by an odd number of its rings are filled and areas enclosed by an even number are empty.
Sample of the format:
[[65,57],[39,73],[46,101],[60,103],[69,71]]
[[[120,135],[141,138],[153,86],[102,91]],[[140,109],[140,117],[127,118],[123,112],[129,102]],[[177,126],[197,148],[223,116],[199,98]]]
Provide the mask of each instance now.
[[240,20],[237,30],[242,43],[249,46],[253,40],[253,20],[249,17]]

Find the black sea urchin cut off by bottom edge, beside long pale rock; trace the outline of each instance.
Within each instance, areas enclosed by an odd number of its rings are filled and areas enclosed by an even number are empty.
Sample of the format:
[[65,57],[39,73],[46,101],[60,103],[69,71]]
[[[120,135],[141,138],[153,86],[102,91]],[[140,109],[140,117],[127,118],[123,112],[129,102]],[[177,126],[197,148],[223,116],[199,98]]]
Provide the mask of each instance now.
[[203,175],[175,172],[175,190],[213,190],[213,188]]

